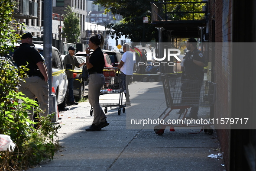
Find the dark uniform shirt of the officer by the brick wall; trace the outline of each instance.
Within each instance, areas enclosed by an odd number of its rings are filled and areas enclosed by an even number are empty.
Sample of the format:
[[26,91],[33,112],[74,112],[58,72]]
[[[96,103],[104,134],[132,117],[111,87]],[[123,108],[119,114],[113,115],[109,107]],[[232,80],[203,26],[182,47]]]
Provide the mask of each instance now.
[[204,72],[204,67],[196,65],[193,60],[204,63],[204,55],[197,48],[193,52],[188,52],[184,61],[185,74],[200,74]]

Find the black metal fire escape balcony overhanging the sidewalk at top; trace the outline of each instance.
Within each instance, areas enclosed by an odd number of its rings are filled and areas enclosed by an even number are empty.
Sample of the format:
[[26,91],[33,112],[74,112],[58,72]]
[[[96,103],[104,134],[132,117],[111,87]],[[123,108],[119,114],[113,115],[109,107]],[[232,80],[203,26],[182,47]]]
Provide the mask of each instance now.
[[[168,31],[172,38],[201,38],[200,30],[208,22],[207,1],[152,3],[151,10],[151,23]],[[207,39],[206,32],[203,36]]]

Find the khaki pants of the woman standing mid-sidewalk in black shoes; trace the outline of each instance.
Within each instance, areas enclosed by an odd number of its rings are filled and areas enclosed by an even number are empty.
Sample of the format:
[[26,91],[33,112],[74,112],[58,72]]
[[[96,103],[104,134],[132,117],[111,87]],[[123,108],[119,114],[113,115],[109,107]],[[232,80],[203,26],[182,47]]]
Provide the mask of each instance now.
[[90,74],[89,83],[88,83],[88,100],[93,108],[95,125],[99,125],[100,122],[105,122],[107,116],[103,112],[99,98],[100,98],[100,89],[105,83],[105,77],[103,74]]

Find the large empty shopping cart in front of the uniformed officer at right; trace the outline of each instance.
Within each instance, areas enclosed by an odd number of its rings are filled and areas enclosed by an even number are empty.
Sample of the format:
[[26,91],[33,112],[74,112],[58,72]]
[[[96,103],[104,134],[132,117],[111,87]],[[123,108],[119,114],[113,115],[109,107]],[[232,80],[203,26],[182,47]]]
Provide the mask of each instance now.
[[[213,129],[211,128],[213,124],[210,122],[210,119],[201,119],[201,121],[206,120],[208,122],[195,122],[200,121],[200,119],[195,119],[194,122],[191,122],[193,120],[186,120],[185,116],[188,112],[188,108],[190,107],[211,106],[214,104],[216,83],[210,81],[181,79],[181,77],[177,77],[175,74],[170,75],[160,73],[160,75],[162,78],[167,108],[159,116],[159,120],[161,119],[162,123],[160,122],[159,125],[154,127],[155,133],[162,135],[167,126],[170,127],[170,131],[174,131],[174,127],[201,126],[201,131],[204,130],[204,132],[211,135],[213,133]],[[166,113],[169,108],[169,112]],[[178,119],[169,118],[169,114],[175,109],[185,109],[185,114],[182,118],[182,113],[180,113]]]

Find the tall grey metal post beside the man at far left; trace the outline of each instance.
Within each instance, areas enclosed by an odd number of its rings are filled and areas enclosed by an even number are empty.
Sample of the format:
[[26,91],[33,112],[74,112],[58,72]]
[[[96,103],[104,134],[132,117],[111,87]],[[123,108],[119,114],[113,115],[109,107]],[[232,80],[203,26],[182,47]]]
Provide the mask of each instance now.
[[[49,77],[49,98],[52,98],[52,0],[44,0],[44,57]],[[49,113],[51,111],[49,110]]]

